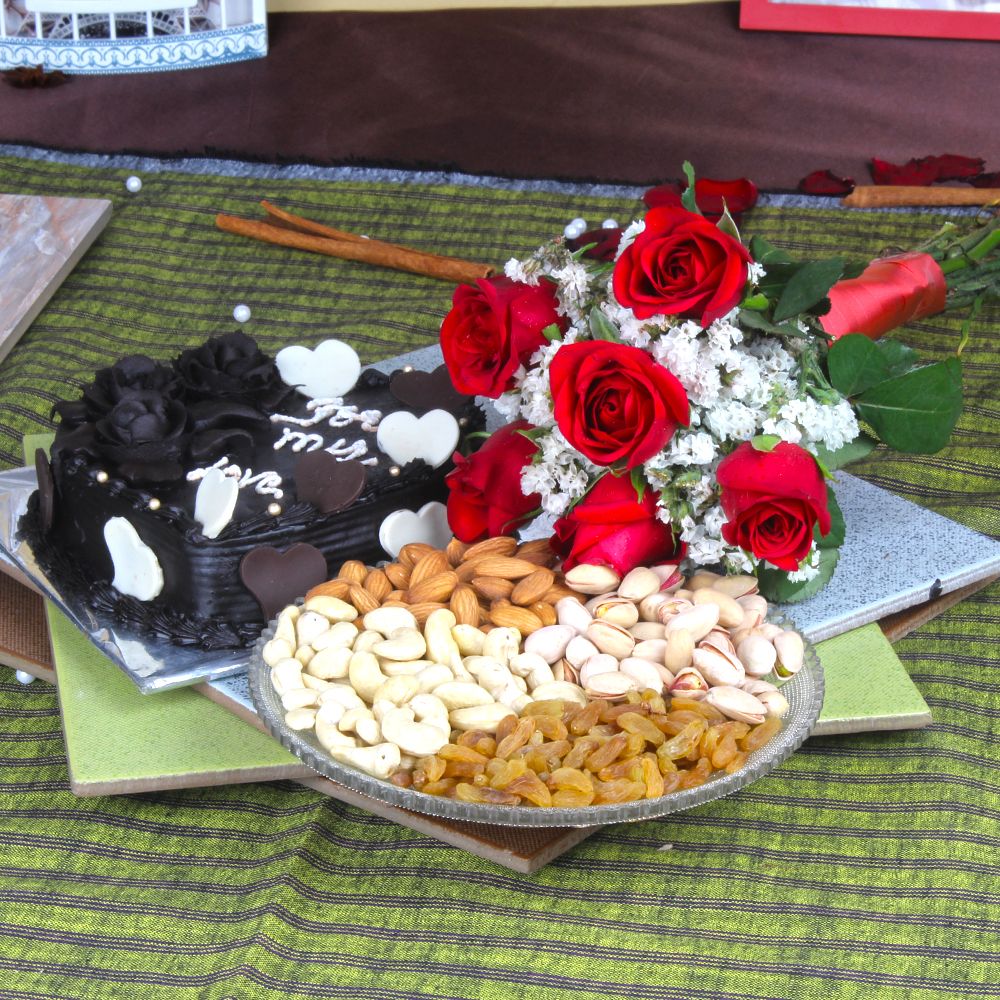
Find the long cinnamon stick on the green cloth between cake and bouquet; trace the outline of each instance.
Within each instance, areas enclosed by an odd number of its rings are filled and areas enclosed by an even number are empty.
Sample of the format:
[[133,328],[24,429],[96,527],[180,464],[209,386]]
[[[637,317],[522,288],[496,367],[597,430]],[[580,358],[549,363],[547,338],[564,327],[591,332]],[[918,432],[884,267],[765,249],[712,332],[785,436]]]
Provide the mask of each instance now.
[[[295,217],[293,216],[293,218]],[[227,233],[246,236],[276,246],[308,250],[340,260],[361,261],[380,267],[394,268],[397,271],[422,274],[428,278],[440,278],[444,281],[474,282],[477,278],[486,278],[493,273],[493,268],[488,264],[477,264],[455,257],[425,254],[408,247],[383,243],[381,240],[369,240],[353,236],[353,234],[351,234],[350,239],[346,236],[334,239],[329,236],[313,235],[308,232],[300,232],[297,229],[273,225],[269,222],[241,219],[221,213],[216,215],[215,224]],[[328,227],[320,226],[320,223],[312,223],[311,225],[328,229]]]

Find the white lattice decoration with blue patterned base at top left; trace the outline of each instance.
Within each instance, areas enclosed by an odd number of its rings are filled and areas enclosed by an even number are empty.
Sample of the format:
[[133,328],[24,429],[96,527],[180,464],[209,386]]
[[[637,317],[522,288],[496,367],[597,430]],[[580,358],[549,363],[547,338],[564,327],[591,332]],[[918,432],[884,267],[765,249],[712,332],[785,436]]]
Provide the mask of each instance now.
[[135,73],[267,54],[265,0],[2,2],[0,69]]

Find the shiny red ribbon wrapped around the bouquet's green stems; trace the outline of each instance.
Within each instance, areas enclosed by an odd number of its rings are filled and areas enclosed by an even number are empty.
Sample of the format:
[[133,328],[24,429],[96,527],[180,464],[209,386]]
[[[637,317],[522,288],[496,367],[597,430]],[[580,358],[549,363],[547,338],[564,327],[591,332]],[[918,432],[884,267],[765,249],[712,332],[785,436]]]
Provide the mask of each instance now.
[[831,337],[863,333],[877,340],[913,319],[944,309],[948,285],[938,262],[926,253],[872,261],[857,278],[830,289],[830,311],[820,317]]

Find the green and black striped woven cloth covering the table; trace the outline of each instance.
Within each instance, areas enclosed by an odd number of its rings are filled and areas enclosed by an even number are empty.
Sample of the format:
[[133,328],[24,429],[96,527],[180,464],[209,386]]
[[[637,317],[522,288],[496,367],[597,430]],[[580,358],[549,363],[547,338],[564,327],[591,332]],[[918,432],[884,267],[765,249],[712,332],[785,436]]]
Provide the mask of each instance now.
[[[574,216],[637,208],[489,187],[179,174],[145,175],[132,196],[128,173],[0,160],[0,190],[116,207],[0,368],[7,464],[96,366],[135,348],[165,358],[230,329],[238,302],[270,349],[333,335],[367,360],[433,340],[447,286],[242,242],[214,230],[216,211],[250,215],[267,197],[346,229],[499,262]],[[874,253],[939,221],[758,209],[746,228],[793,251]],[[994,311],[973,327],[953,444],[925,458],[880,449],[862,470],[993,534],[996,322]],[[931,318],[907,339],[942,357],[959,326]],[[994,587],[897,645],[931,727],[810,740],[732,798],[610,828],[531,876],[291,783],[75,799],[55,693],[0,670],[0,995],[996,996],[998,621]]]

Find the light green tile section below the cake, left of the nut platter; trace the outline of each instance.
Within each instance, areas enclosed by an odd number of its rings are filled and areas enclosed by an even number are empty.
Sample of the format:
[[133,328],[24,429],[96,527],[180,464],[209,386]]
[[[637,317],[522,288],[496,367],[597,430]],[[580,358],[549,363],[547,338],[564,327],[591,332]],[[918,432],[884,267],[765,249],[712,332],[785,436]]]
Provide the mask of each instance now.
[[70,779],[114,795],[292,778],[301,762],[270,736],[190,690],[143,695],[51,605]]

